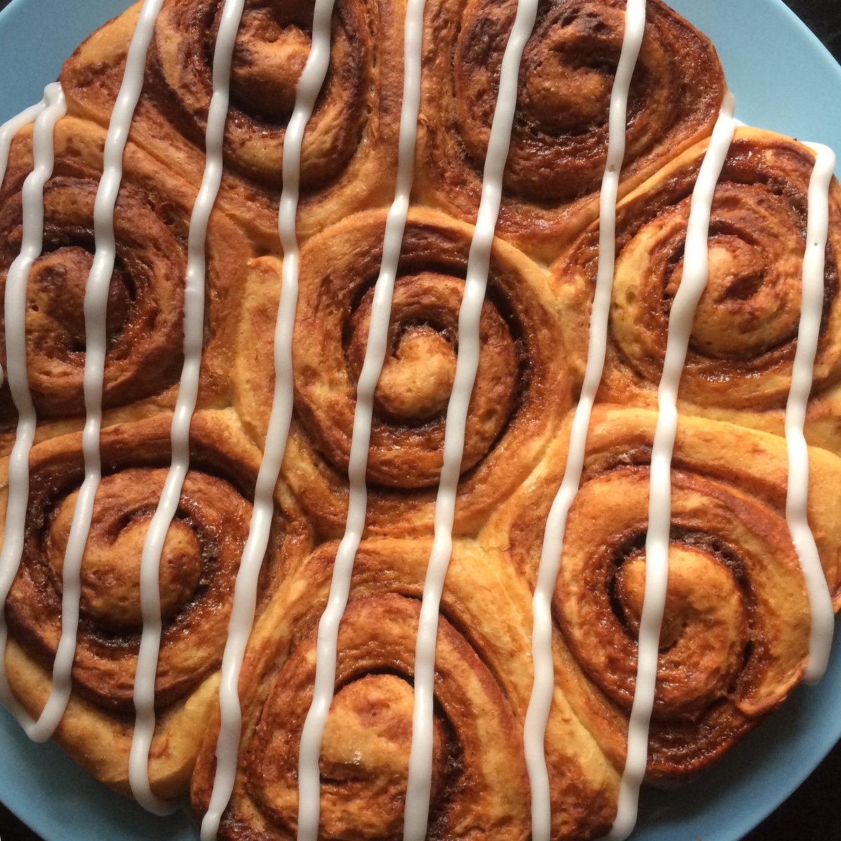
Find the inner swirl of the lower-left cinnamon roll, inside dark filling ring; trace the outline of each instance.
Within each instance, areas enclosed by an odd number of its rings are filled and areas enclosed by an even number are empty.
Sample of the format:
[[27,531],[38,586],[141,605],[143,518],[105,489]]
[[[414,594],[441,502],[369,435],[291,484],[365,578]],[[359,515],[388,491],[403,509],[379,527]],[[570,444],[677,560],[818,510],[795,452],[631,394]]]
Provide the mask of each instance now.
[[[97,627],[116,632],[139,632],[140,556],[160,494],[150,487],[149,472],[125,470],[106,476],[93,506],[91,532],[82,555],[82,616]],[[56,511],[48,553],[56,581],[61,581],[78,492],[68,495]],[[202,553],[188,524],[175,520],[161,553],[159,590],[161,616],[175,615],[198,588]]]

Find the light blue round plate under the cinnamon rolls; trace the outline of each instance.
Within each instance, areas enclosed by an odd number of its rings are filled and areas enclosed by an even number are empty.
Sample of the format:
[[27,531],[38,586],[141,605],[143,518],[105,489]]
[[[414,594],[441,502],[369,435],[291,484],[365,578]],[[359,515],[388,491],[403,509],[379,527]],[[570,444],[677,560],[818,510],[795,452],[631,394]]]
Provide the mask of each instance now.
[[[0,13],[0,122],[41,97],[61,62],[128,0],[13,0]],[[746,123],[841,151],[841,67],[780,0],[671,0],[717,46]],[[10,82],[8,80],[14,80]],[[828,673],[711,771],[676,792],[645,792],[634,841],[738,841],[841,738],[841,645]],[[187,817],[161,820],[99,785],[54,744],[0,710],[0,801],[46,841],[195,841]]]

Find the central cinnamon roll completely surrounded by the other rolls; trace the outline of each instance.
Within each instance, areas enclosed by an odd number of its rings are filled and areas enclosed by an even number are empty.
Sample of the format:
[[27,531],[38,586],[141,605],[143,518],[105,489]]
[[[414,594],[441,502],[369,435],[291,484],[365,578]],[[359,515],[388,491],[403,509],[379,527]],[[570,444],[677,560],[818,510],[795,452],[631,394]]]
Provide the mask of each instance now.
[[[383,251],[385,213],[357,214],[301,251],[295,324],[295,417],[283,475],[327,536],[347,508],[356,379]],[[372,533],[429,533],[442,464],[444,415],[458,352],[458,307],[472,229],[441,214],[409,214],[394,284],[389,350],[375,394],[368,457]],[[280,263],[257,260],[243,306],[235,406],[262,440],[272,402],[272,330]],[[569,408],[558,320],[544,273],[496,241],[480,322],[456,506],[475,533],[525,479]]]

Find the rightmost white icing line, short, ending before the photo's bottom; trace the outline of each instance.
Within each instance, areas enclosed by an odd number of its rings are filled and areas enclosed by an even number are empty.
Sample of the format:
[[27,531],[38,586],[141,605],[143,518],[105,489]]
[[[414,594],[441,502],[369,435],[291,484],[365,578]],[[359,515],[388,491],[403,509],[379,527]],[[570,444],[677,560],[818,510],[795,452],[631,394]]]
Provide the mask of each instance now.
[[800,559],[806,579],[812,630],[809,639],[809,661],[804,680],[814,683],[826,671],[829,649],[833,642],[835,615],[815,537],[807,519],[809,494],[809,451],[803,436],[803,424],[817,341],[823,315],[823,269],[826,259],[829,228],[829,185],[835,168],[835,154],[828,146],[807,144],[816,153],[815,168],[809,182],[809,211],[806,252],[803,256],[803,288],[797,348],[791,371],[791,389],[785,405],[785,443],[788,448],[788,489],[785,496],[785,519],[791,540]]

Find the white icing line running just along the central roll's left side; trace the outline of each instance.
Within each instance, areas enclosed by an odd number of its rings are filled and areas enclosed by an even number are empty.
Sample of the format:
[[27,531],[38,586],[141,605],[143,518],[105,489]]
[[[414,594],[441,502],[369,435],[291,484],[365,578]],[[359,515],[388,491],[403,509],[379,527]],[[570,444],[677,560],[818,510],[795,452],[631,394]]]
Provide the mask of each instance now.
[[283,191],[280,197],[278,233],[283,246],[283,283],[278,320],[274,334],[274,395],[269,415],[266,445],[257,473],[254,509],[251,512],[246,546],[236,576],[234,605],[229,636],[222,659],[220,685],[220,734],[216,743],[214,791],[208,812],[202,821],[202,839],[216,837],[222,812],[234,788],[236,757],[239,748],[242,714],[239,680],[242,659],[254,622],[257,605],[257,579],[266,556],[274,514],[274,488],[292,420],[293,377],[292,336],[298,303],[299,246],[296,214],[300,187],[301,145],[304,129],[315,108],[330,66],[331,19],[334,0],[315,0],[311,48],[295,90],[292,117],[283,141]]

